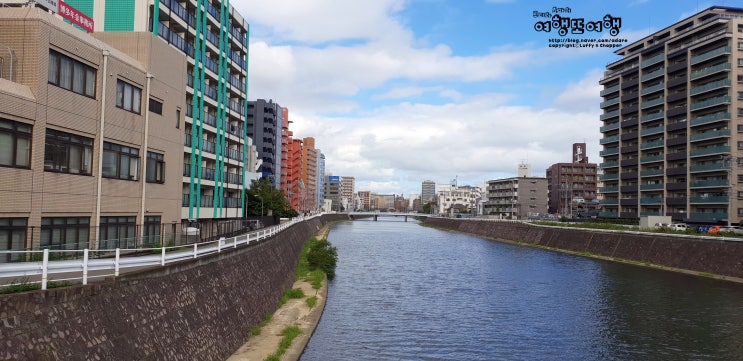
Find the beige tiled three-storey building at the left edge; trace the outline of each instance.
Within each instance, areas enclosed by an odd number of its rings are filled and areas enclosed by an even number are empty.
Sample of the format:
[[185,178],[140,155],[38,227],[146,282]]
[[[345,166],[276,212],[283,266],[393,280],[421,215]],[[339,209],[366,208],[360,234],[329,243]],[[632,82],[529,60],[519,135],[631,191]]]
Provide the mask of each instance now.
[[37,7],[0,8],[0,29],[0,249],[180,226],[186,56],[147,32],[124,52]]

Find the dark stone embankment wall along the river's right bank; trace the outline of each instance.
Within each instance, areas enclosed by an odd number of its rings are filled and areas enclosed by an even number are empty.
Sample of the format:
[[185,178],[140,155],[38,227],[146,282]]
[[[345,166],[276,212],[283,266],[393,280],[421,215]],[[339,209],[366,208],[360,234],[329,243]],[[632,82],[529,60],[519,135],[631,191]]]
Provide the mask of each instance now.
[[482,237],[743,278],[743,242],[662,233],[543,227],[519,222],[427,218],[425,223]]

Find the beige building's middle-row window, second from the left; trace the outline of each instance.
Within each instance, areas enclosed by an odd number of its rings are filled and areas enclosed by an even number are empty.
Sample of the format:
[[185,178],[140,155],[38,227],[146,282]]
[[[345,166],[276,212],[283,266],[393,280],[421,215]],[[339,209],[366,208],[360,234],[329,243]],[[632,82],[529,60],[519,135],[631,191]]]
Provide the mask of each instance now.
[[53,129],[46,130],[44,170],[90,175],[92,163],[93,139]]

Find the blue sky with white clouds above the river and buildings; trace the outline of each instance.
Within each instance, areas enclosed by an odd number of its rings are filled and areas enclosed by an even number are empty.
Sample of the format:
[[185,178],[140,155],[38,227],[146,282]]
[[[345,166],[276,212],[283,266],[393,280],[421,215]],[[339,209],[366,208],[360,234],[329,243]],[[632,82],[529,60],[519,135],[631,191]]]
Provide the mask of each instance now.
[[[250,24],[248,98],[289,109],[325,171],[356,191],[420,194],[421,182],[544,177],[586,143],[600,163],[599,80],[625,46],[733,1],[233,0]],[[738,4],[737,6],[740,6]],[[555,12],[569,8],[570,12]],[[535,17],[537,13],[537,17]],[[549,13],[609,29],[561,36]],[[547,31],[549,30],[549,31]],[[598,29],[597,29],[598,30]],[[560,39],[561,43],[550,42]],[[555,48],[564,39],[594,47]],[[598,40],[612,40],[599,43]],[[569,43],[575,44],[575,43]]]

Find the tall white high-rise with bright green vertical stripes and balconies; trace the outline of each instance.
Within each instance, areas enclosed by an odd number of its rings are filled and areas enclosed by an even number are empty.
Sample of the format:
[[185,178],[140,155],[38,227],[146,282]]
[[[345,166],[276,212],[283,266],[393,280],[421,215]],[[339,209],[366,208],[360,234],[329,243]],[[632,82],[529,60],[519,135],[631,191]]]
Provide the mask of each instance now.
[[[248,24],[228,0],[67,0],[93,36],[127,54],[150,32],[185,54],[183,218],[242,217],[245,199]],[[167,63],[167,60],[160,59]],[[185,112],[184,112],[185,110]],[[256,144],[259,144],[256,142]]]

